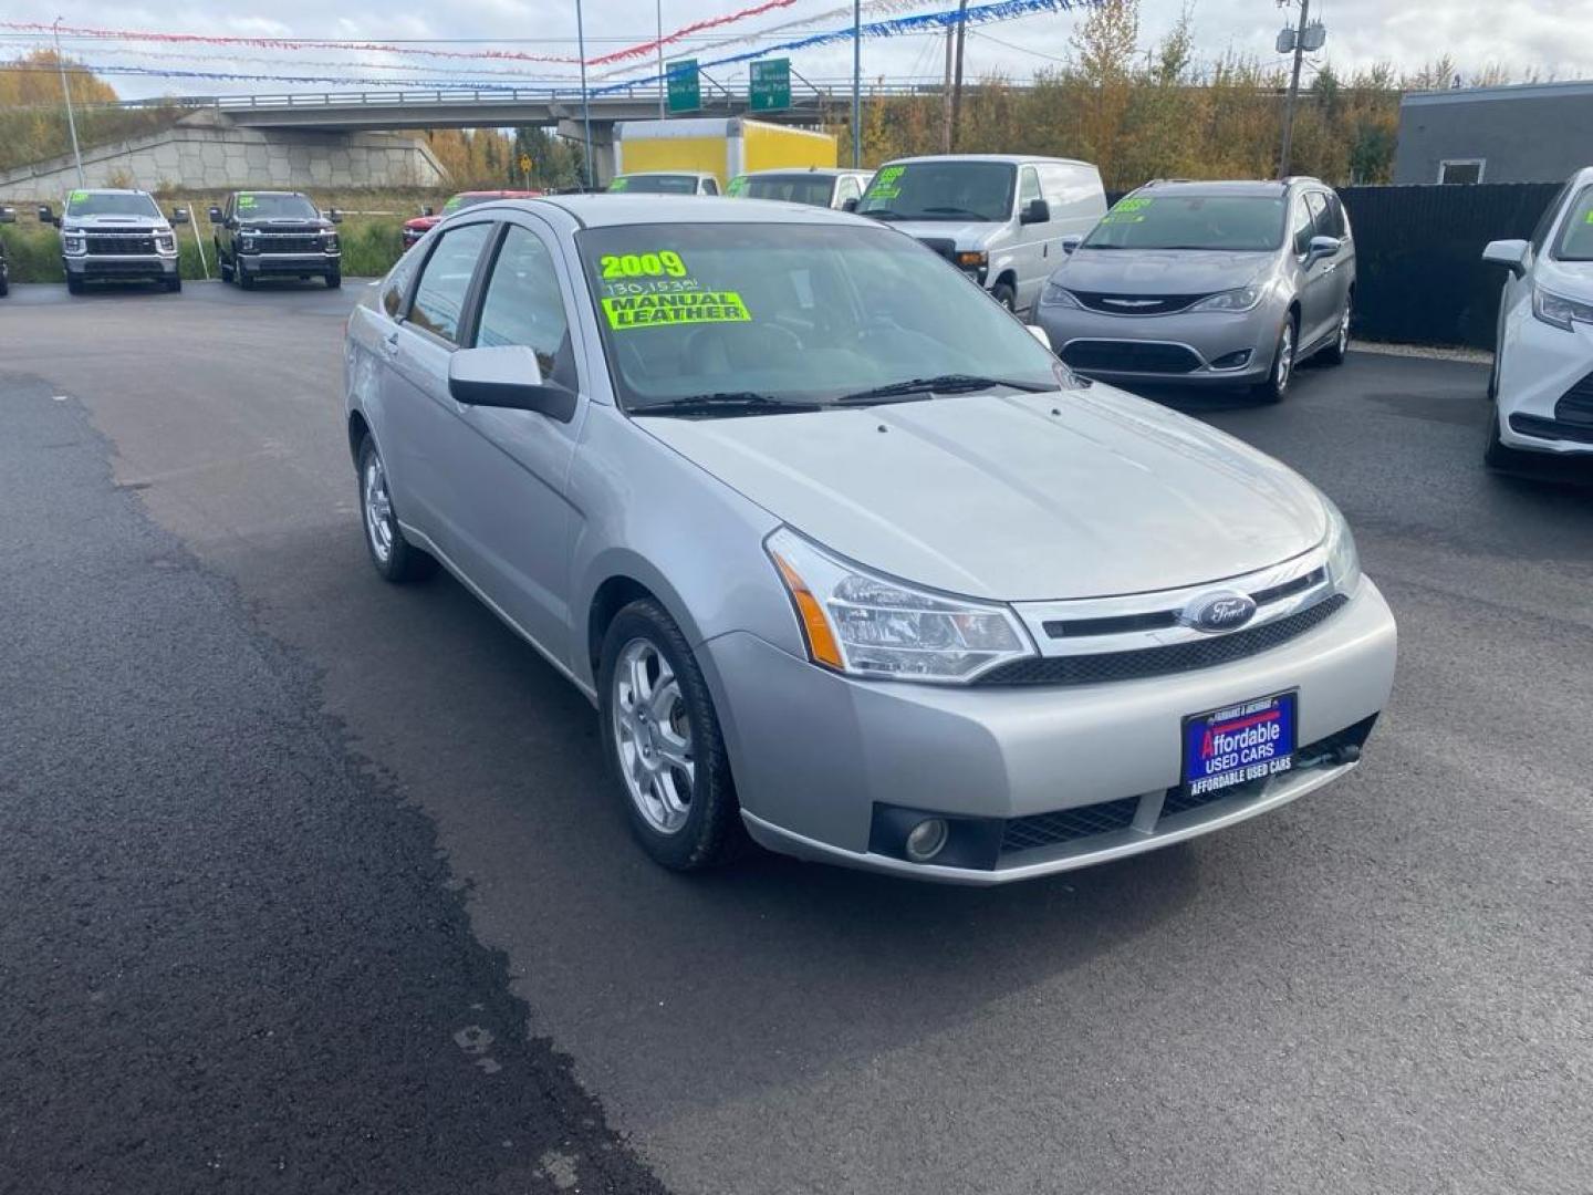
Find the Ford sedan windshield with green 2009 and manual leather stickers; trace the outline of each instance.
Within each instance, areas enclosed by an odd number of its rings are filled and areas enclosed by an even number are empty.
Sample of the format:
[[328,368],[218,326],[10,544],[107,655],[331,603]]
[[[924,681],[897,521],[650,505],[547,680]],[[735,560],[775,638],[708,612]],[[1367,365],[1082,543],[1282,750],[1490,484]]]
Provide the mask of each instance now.
[[978,284],[884,228],[626,225],[575,241],[634,413],[687,400],[726,400],[725,414],[803,409],[903,384],[911,392],[890,400],[927,398],[941,387],[913,384],[948,378],[943,392],[1075,384]]

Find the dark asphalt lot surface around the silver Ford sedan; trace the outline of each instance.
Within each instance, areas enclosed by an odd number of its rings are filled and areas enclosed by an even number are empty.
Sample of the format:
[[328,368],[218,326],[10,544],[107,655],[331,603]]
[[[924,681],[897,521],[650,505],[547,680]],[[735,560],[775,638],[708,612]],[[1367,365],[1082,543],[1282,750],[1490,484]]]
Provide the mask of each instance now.
[[596,717],[378,580],[365,293],[0,301],[0,1190],[1580,1192],[1593,489],[1486,368],[1168,398],[1400,620],[1365,766],[999,891],[628,840]]

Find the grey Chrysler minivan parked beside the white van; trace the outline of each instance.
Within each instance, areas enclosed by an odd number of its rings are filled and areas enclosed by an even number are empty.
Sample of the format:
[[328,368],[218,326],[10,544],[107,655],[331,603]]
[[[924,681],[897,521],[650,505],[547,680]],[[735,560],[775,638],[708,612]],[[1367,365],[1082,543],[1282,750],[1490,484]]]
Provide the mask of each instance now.
[[1147,183],[1067,252],[1035,319],[1091,378],[1279,402],[1295,365],[1349,351],[1356,241],[1316,178]]

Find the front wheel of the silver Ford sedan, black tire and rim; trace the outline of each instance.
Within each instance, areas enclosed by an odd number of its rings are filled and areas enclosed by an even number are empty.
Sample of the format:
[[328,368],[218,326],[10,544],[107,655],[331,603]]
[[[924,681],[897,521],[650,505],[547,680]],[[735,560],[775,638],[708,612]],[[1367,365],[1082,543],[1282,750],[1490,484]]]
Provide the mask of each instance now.
[[722,864],[739,841],[736,790],[703,671],[674,618],[631,602],[604,634],[602,741],[631,832],[674,872]]

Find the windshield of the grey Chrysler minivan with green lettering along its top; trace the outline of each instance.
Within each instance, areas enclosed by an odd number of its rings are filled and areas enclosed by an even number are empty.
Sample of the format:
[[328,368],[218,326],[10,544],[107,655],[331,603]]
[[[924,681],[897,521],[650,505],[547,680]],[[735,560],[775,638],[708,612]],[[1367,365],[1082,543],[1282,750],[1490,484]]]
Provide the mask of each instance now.
[[1225,249],[1284,242],[1284,194],[1131,194],[1101,217],[1085,249]]

